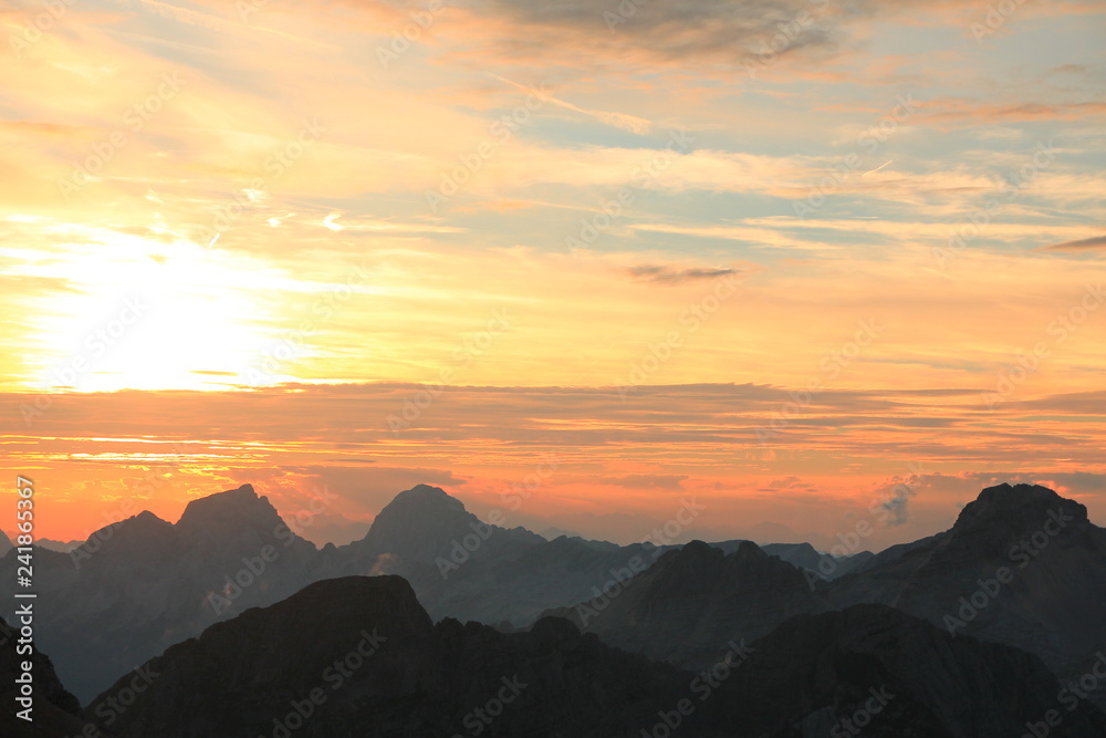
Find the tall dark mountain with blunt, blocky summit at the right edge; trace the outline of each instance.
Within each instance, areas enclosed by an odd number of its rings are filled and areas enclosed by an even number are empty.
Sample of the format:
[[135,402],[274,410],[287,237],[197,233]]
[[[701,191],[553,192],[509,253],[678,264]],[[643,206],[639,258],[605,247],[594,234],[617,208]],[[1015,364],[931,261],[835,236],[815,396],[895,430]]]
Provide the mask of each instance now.
[[[1033,485],[980,492],[952,528],[888,550],[825,586],[837,607],[893,605],[953,634],[1041,656],[1062,679],[1106,649],[1106,530]],[[1106,704],[1106,680],[1094,698]]]

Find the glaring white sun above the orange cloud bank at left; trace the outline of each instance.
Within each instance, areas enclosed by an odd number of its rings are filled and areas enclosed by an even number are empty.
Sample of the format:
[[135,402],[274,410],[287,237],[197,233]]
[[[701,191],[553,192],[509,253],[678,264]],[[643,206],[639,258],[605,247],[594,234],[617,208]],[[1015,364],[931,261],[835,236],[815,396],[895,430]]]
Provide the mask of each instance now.
[[[35,389],[219,389],[249,384],[275,336],[267,270],[249,257],[90,229],[65,245],[70,289],[32,321]],[[109,239],[109,243],[103,241]],[[105,246],[107,248],[105,248]],[[52,268],[58,274],[60,264]],[[257,274],[257,281],[243,280]]]

